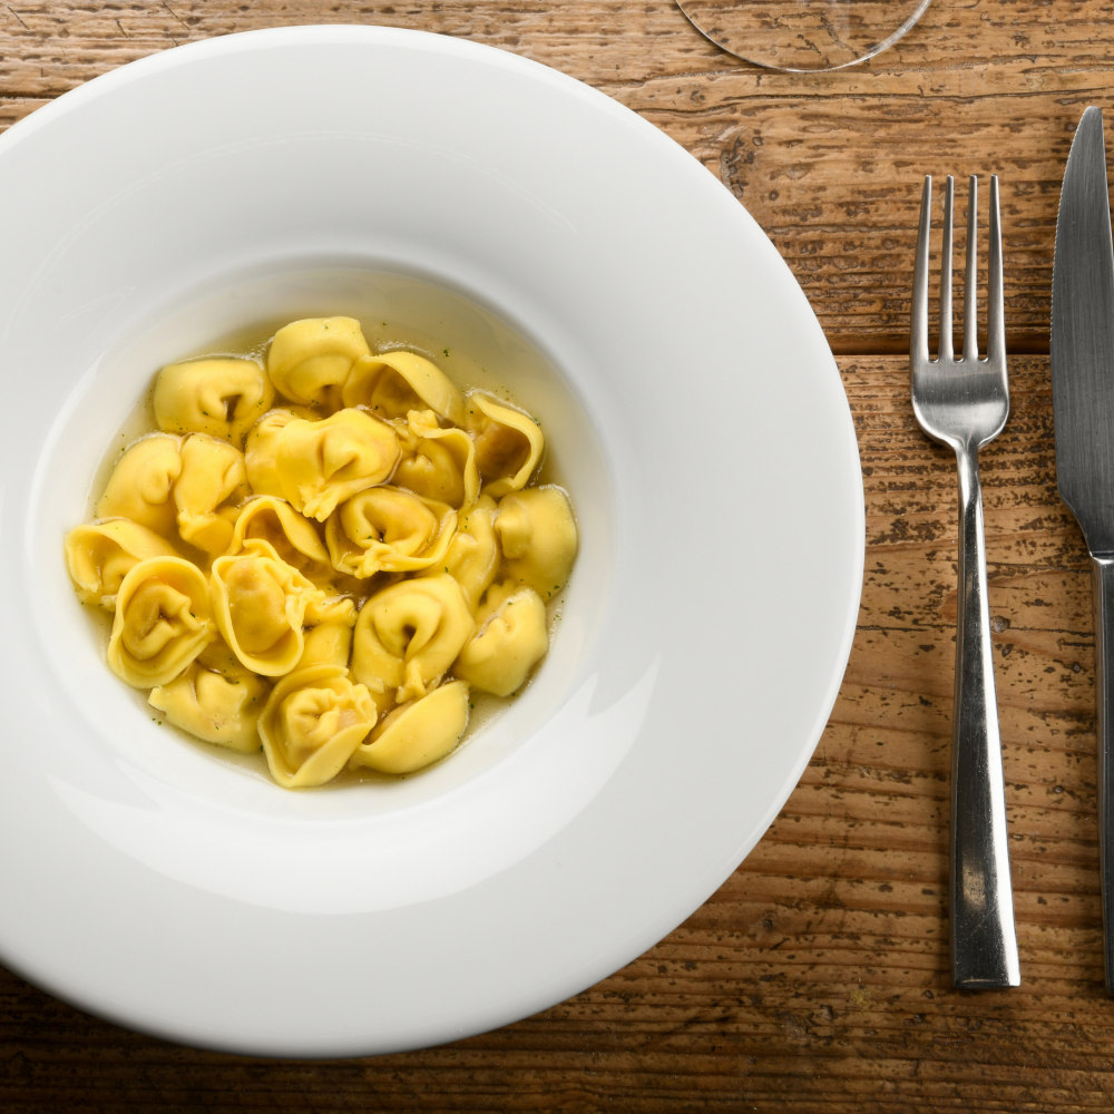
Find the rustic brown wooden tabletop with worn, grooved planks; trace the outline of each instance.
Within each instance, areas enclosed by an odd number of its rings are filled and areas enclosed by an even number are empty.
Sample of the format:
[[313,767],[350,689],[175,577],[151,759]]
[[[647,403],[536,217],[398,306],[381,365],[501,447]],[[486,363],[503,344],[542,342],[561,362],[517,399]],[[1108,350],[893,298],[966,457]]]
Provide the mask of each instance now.
[[[421,1053],[264,1062],[125,1032],[0,971],[0,1110],[1108,1108],[1091,585],[1056,494],[1047,358],[1068,144],[1086,105],[1114,104],[1108,6],[935,0],[867,65],[779,75],[719,52],[671,0],[11,0],[0,125],[143,55],[304,22],[423,28],[560,68],[745,204],[811,300],[858,429],[866,582],[847,676],[743,867],[570,1001]],[[1001,176],[1006,231],[1013,412],[983,471],[1024,981],[959,994],[946,908],[955,471],[913,422],[905,352],[921,176],[973,172]]]

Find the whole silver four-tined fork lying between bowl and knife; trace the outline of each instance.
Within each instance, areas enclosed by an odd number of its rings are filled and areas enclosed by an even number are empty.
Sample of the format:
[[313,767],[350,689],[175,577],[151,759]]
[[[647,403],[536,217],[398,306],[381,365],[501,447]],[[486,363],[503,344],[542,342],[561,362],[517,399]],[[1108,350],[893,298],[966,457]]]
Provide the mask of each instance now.
[[978,354],[978,178],[971,175],[964,291],[964,353],[952,353],[951,226],[955,182],[944,198],[939,355],[928,351],[928,271],[932,179],[926,177],[912,291],[912,408],[920,428],[949,446],[959,469],[959,603],[951,732],[949,854],[951,975],[964,989],[1017,986],[1006,831],[1001,741],[995,702],[986,538],[978,450],[1001,432],[1009,413],[1001,281],[998,178],[990,177],[987,354]]

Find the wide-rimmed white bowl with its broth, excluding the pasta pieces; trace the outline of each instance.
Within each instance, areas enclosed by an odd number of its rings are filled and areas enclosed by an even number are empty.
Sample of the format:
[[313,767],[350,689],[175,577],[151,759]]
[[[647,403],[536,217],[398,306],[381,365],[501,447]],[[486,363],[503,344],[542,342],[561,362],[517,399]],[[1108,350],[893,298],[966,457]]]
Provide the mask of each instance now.
[[[831,710],[862,574],[822,333],[659,131],[382,28],[166,51],[0,137],[0,958],[185,1043],[428,1045],[549,1006],[697,908]],[[65,531],[154,370],[353,313],[543,417],[582,553],[551,654],[448,761],[291,793],[107,672]]]

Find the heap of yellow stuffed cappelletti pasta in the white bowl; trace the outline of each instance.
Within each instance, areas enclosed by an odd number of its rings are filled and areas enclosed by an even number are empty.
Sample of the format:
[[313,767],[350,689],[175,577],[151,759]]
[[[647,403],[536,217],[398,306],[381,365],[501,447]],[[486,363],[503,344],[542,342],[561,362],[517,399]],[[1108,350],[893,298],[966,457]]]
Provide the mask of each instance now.
[[344,316],[167,364],[152,409],[66,560],[159,722],[302,789],[438,762],[528,683],[578,547],[531,414]]

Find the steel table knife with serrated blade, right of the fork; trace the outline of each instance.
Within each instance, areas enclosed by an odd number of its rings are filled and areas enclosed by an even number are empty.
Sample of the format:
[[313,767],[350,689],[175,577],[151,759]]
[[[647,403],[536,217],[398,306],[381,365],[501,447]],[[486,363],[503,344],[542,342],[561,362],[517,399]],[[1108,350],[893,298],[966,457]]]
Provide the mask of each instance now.
[[1114,993],[1114,246],[1103,114],[1083,114],[1064,172],[1052,281],[1056,478],[1091,553],[1098,701],[1098,856]]

